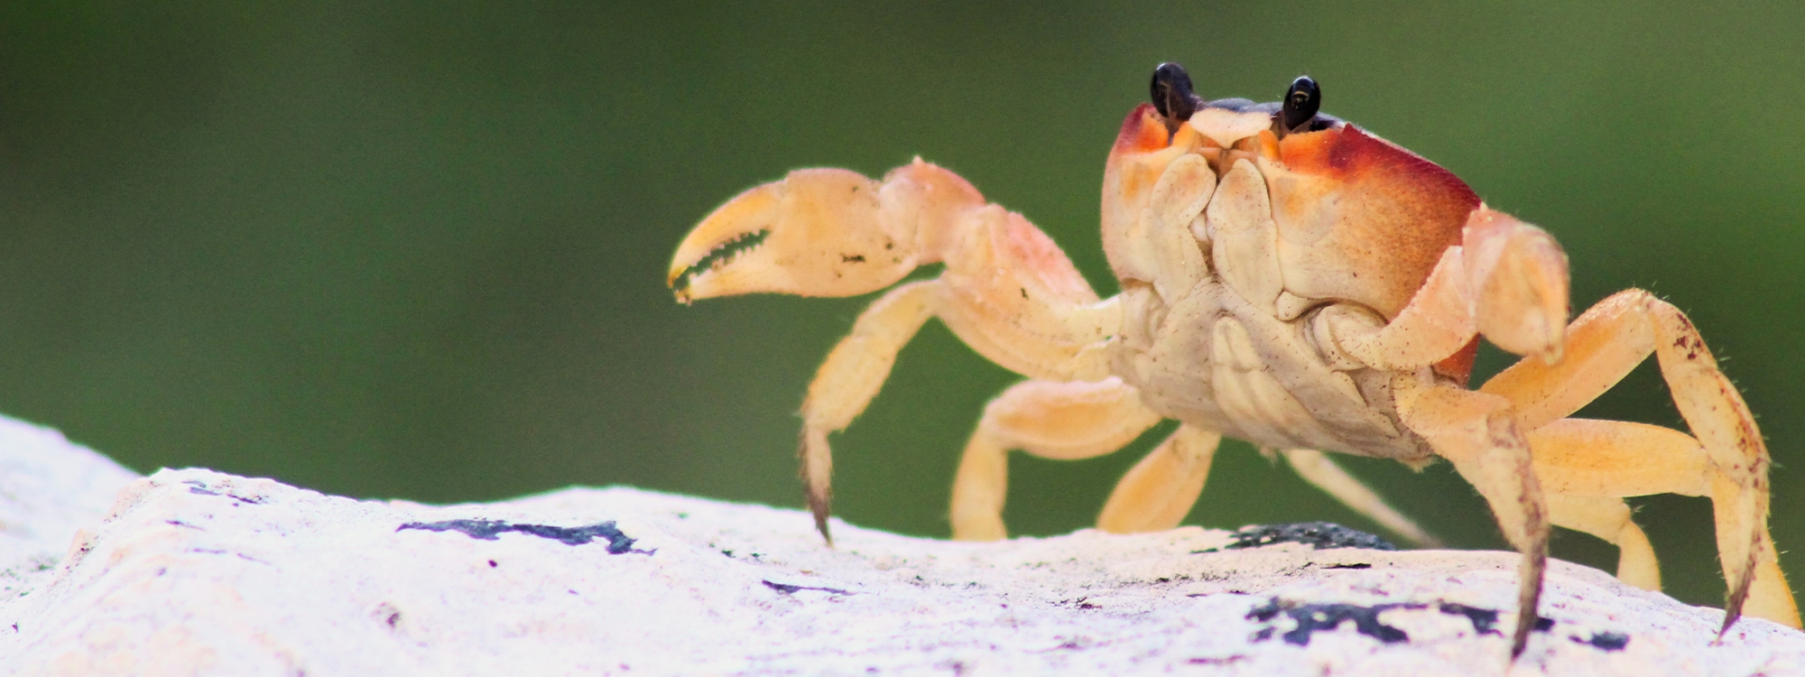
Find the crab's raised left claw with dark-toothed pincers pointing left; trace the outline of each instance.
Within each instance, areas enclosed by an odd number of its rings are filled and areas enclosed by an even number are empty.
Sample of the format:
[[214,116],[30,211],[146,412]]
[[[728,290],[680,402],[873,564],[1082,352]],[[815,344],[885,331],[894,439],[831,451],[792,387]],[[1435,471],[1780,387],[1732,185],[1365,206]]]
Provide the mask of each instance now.
[[[677,246],[677,300],[776,292],[857,296],[939,260],[948,209],[982,206],[971,184],[939,166],[901,166],[883,182],[847,170],[796,170],[740,193]],[[924,227],[926,226],[926,227]]]

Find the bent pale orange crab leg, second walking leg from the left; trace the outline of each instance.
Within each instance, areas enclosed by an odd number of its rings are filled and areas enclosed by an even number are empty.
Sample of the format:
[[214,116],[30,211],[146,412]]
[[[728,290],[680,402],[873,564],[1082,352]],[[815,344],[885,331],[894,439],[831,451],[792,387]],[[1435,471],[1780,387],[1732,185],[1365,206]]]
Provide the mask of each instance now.
[[[1101,457],[1159,422],[1141,394],[1115,377],[1097,383],[1022,381],[984,406],[953,480],[953,540],[1002,540],[1009,450],[1041,459]],[[1182,515],[1180,515],[1182,518]]]

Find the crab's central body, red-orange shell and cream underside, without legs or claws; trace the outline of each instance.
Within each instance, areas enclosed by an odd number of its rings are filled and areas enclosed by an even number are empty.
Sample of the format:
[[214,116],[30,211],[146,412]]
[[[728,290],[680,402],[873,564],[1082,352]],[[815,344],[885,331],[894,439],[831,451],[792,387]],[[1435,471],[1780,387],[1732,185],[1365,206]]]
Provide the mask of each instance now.
[[[1278,137],[1269,110],[1229,101],[1175,132],[1137,107],[1103,195],[1126,314],[1112,372],[1150,408],[1271,448],[1433,455],[1397,421],[1390,374],[1338,370],[1330,339],[1294,334],[1321,334],[1309,314],[1325,307],[1375,314],[1372,327],[1397,318],[1462,242],[1480,206],[1466,182],[1339,121]],[[1560,327],[1565,278],[1554,283]],[[1476,348],[1466,341],[1435,370],[1464,385]],[[1220,365],[1236,361],[1249,368]]]

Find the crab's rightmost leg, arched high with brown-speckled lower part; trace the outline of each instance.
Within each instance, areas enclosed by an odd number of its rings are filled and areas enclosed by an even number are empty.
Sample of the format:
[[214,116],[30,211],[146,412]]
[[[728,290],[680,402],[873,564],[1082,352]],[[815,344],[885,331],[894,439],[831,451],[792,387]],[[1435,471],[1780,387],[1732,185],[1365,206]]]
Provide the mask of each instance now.
[[1610,390],[1648,354],[1655,354],[1673,403],[1709,460],[1704,482],[1729,583],[1724,628],[1736,621],[1745,599],[1751,616],[1800,626],[1792,594],[1778,563],[1773,563],[1774,547],[1767,534],[1767,446],[1754,415],[1717,368],[1691,321],[1653,294],[1628,289],[1574,321],[1565,354],[1554,365],[1520,361],[1480,390],[1509,397],[1525,426],[1543,426]]

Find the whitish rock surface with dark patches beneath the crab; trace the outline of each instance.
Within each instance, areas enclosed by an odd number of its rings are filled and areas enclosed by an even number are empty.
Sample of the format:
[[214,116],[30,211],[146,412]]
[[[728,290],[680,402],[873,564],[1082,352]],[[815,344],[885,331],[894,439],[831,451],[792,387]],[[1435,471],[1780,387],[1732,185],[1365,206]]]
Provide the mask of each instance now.
[[827,549],[798,511],[628,487],[419,505],[134,478],[14,421],[0,520],[0,673],[1805,672],[1805,634],[1744,619],[1713,645],[1722,612],[1561,561],[1507,668],[1507,552],[845,524]]

